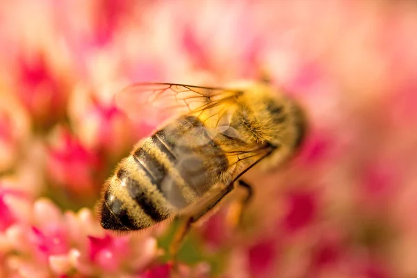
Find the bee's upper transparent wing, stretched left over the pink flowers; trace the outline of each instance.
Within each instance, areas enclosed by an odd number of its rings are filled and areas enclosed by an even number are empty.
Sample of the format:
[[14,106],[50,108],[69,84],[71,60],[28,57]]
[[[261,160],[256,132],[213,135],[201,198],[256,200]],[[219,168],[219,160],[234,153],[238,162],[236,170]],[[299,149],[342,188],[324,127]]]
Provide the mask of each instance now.
[[135,83],[118,92],[116,104],[133,120],[160,124],[186,113],[213,108],[233,101],[241,90],[173,83]]

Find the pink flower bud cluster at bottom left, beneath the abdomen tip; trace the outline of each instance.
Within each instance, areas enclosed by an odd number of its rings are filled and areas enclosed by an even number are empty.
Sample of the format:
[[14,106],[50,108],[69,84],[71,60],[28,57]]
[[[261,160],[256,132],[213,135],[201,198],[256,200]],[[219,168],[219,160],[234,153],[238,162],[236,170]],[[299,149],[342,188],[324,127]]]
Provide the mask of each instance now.
[[43,277],[70,272],[81,277],[109,272],[135,275],[155,259],[154,238],[147,234],[104,235],[97,218],[86,208],[63,214],[54,203],[40,199],[32,211],[26,221],[17,218],[6,233],[8,250],[16,253],[6,256],[4,262],[10,273],[22,275],[37,268]]

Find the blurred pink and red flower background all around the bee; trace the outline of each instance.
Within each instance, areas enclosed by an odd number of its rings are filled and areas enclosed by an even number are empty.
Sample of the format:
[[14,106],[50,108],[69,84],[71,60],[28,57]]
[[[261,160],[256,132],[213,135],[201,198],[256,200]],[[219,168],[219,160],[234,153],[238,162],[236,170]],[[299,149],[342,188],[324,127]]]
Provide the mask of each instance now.
[[177,222],[106,233],[94,204],[154,126],[132,82],[222,85],[268,72],[302,104],[295,159],[250,173],[193,230],[183,277],[417,277],[415,1],[0,1],[0,277],[169,277]]

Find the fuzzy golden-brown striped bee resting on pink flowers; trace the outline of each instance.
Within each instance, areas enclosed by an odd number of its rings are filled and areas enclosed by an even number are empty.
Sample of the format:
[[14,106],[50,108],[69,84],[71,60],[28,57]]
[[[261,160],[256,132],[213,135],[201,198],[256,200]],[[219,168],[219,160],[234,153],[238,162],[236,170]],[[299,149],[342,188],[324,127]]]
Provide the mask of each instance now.
[[188,227],[236,186],[250,197],[243,174],[258,163],[279,165],[305,133],[300,107],[268,83],[138,83],[116,101],[131,117],[163,124],[138,142],[103,188],[105,229],[140,230],[178,215]]

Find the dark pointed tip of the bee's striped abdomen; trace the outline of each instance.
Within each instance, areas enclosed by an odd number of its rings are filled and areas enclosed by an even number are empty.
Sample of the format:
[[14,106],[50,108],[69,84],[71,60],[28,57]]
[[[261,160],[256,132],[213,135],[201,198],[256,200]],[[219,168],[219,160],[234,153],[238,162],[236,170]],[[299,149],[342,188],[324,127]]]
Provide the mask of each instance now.
[[116,231],[129,231],[135,229],[126,211],[122,208],[122,202],[114,196],[106,194],[101,206],[101,227]]

